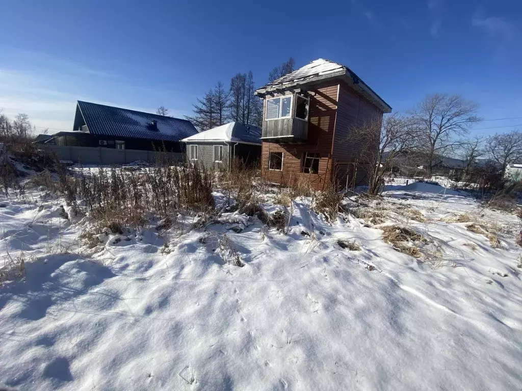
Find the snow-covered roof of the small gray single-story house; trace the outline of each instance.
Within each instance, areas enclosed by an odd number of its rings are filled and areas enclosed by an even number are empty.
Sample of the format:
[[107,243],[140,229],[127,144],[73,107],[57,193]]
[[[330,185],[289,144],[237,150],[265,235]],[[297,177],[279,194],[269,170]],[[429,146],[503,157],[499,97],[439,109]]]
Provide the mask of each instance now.
[[231,122],[187,137],[183,142],[237,142],[261,145],[261,129],[252,125]]

